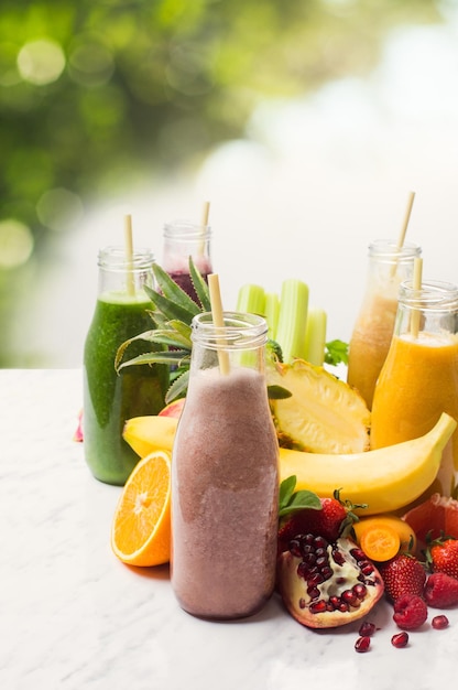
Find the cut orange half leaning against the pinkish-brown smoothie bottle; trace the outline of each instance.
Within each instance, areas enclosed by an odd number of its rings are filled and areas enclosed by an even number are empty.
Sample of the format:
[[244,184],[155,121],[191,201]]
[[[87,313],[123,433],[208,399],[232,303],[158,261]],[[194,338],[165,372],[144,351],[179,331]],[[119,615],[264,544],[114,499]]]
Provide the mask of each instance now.
[[129,565],[167,563],[171,552],[171,457],[155,451],[129,476],[111,527],[111,548]]

